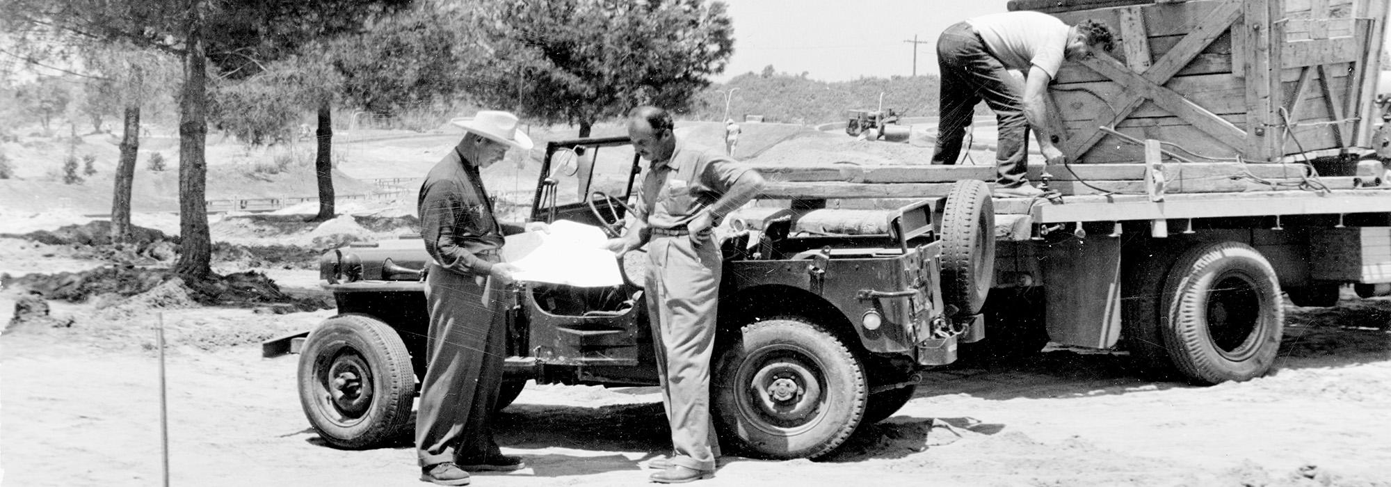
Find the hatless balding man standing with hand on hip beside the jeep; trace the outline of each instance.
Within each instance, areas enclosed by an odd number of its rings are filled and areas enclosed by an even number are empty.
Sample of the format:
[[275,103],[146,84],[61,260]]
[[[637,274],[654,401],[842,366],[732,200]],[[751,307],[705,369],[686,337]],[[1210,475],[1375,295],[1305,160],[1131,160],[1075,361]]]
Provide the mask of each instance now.
[[647,316],[676,452],[648,466],[662,469],[652,481],[668,484],[715,476],[719,440],[709,413],[709,358],[722,257],[714,228],[764,186],[758,173],[677,141],[672,128],[666,110],[643,106],[629,113],[633,150],[651,167],[627,228],[608,242],[619,256],[647,244]]

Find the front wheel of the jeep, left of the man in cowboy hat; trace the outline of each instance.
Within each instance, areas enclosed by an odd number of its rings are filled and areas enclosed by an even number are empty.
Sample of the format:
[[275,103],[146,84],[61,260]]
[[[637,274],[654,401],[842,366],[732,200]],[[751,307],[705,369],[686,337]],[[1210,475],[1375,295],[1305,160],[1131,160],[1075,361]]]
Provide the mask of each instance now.
[[367,448],[408,433],[415,392],[406,345],[377,319],[334,316],[305,340],[299,404],[330,445]]

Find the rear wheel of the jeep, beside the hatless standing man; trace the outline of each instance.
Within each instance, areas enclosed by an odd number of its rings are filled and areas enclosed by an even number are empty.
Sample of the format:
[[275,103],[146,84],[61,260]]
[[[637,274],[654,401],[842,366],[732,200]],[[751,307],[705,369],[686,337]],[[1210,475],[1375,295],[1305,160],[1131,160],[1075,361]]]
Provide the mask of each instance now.
[[860,426],[864,365],[830,333],[797,317],[744,326],[715,362],[715,427],[759,458],[815,458]]

